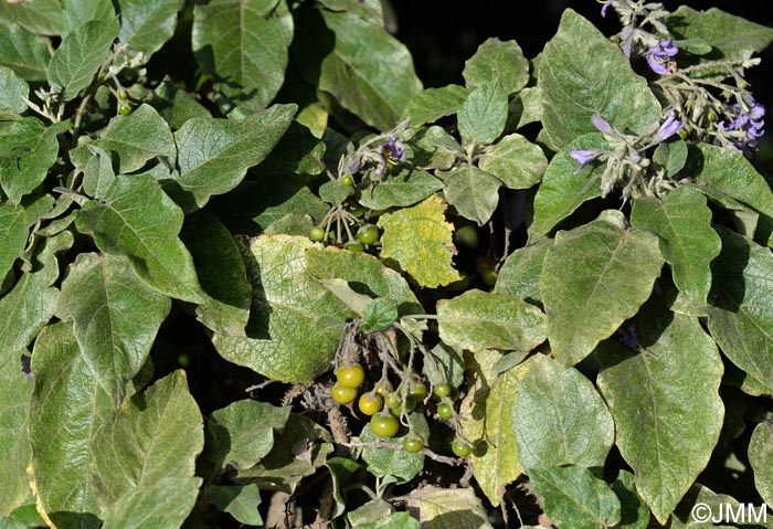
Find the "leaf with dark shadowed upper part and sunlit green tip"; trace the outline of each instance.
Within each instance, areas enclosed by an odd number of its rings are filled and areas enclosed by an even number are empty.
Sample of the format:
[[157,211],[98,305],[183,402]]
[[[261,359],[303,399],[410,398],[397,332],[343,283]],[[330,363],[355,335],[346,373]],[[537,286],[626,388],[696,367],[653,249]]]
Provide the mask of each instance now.
[[252,286],[233,235],[215,216],[202,213],[186,219],[180,237],[205,295],[195,308],[197,318],[215,332],[244,336]]

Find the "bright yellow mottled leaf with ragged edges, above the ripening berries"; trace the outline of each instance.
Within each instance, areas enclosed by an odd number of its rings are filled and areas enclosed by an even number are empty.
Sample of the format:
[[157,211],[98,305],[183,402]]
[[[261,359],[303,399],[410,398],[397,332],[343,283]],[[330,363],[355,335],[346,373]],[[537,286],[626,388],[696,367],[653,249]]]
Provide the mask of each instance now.
[[381,258],[394,260],[419,285],[436,287],[459,281],[452,267],[453,226],[445,205],[433,194],[412,208],[381,215]]

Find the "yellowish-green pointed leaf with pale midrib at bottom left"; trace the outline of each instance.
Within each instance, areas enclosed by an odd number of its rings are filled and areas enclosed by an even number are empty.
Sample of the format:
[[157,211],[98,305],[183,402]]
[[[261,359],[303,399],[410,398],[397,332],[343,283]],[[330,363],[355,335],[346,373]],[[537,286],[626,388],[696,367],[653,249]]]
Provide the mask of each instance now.
[[[120,405],[94,434],[89,478],[105,512],[163,478],[190,478],[204,446],[201,412],[177,370]],[[158,499],[153,502],[157,502]]]

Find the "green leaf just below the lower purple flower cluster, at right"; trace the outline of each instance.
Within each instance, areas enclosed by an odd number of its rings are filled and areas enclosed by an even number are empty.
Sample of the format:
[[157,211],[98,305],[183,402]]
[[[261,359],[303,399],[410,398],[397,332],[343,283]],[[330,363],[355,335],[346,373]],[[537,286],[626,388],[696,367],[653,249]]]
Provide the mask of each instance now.
[[690,301],[705,304],[711,288],[711,261],[721,241],[711,229],[711,210],[698,191],[681,187],[663,200],[634,202],[631,222],[660,240],[660,253],[671,265],[674,283]]

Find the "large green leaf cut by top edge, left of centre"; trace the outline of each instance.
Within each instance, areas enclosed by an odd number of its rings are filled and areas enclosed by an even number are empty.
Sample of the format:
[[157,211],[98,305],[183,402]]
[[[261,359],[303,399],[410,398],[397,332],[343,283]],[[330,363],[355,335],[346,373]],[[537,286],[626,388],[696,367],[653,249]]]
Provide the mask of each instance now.
[[293,17],[285,0],[214,0],[193,10],[199,66],[235,105],[265,108],[285,80]]

